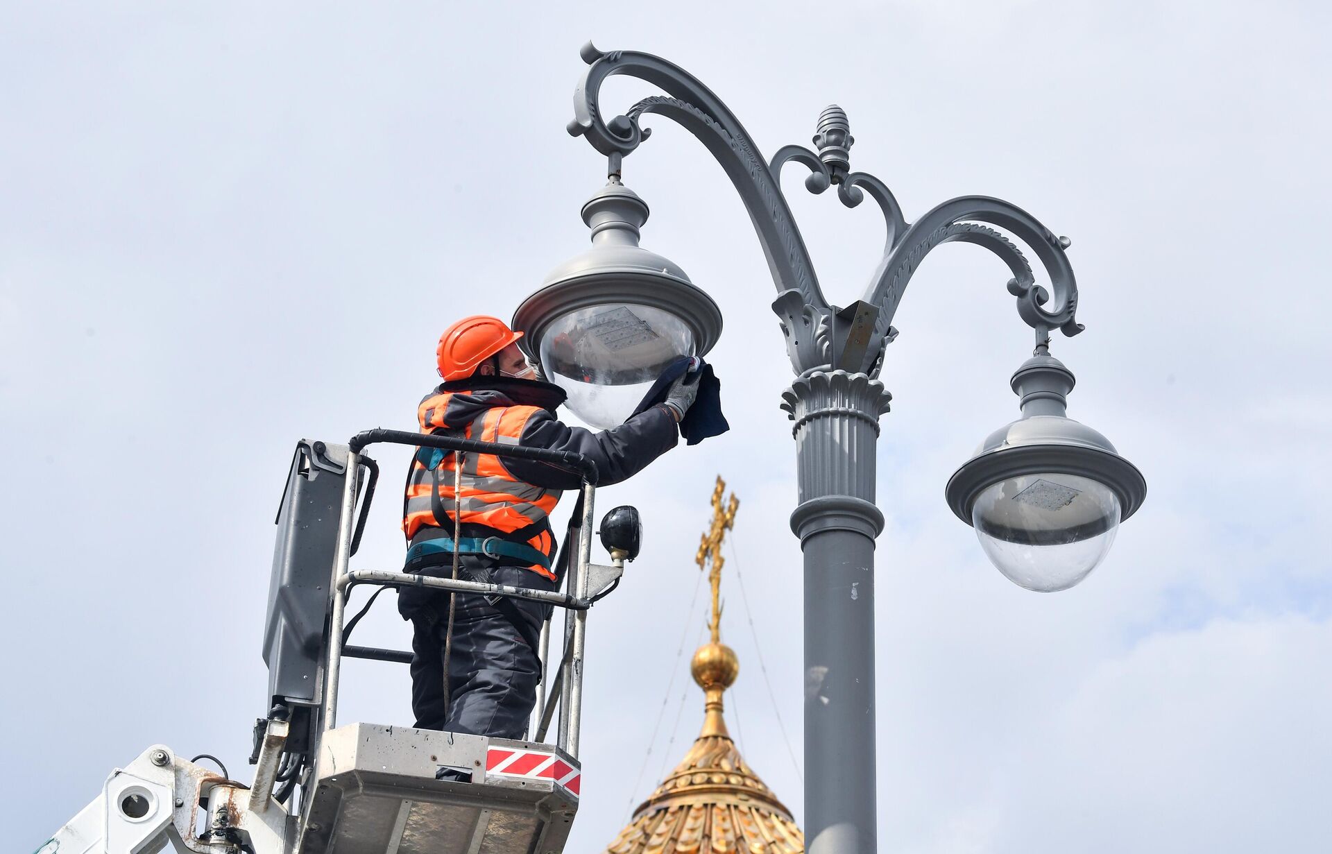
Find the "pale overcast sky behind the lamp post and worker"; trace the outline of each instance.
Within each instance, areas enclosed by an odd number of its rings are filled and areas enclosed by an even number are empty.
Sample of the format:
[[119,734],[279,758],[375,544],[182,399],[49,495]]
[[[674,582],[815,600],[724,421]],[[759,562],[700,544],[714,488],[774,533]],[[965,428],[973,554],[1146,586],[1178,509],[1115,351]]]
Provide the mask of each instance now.
[[[1054,345],[1079,380],[1070,414],[1142,468],[1147,504],[1071,592],[1028,593],[988,565],[943,485],[1016,416],[1007,380],[1031,334],[998,260],[931,254],[883,370],[882,849],[1324,847],[1327,9],[5,4],[3,847],[37,847],[153,743],[249,778],[293,444],[412,428],[440,330],[509,317],[582,249],[578,208],[603,160],[563,127],[587,39],[690,69],[765,155],[807,144],[840,104],[852,168],[887,181],[908,218],[983,193],[1074,241],[1087,332]],[[614,80],[605,104],[649,92]],[[717,473],[742,501],[723,581],[742,661],[729,715],[802,818],[755,645],[799,755],[773,285],[722,171],[667,120],[649,124],[625,180],[653,209],[643,244],[725,313],[711,358],[734,429],[601,494],[642,508],[647,546],[589,622],[570,851],[611,841],[701,723],[677,650],[683,636],[687,662],[701,633],[693,552]],[[878,213],[795,177],[786,192],[829,297],[854,298]],[[358,561],[397,568],[405,454],[376,456],[388,488]],[[409,632],[386,601],[358,634],[404,646]],[[405,723],[408,697],[405,667],[357,662],[340,719]]]

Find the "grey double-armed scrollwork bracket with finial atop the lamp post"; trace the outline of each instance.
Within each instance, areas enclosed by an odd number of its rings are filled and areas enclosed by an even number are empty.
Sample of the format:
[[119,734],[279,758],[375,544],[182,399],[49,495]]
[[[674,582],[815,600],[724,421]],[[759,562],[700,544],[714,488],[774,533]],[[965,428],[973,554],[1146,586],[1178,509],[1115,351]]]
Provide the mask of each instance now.
[[[896,337],[892,317],[911,276],[924,256],[946,242],[971,242],[999,256],[1012,277],[1008,290],[1018,300],[1018,313],[1036,330],[1036,344],[1048,344],[1050,332],[1078,334],[1074,320],[1078,286],[1064,254],[1067,240],[1028,213],[999,199],[967,196],[947,201],[914,224],[887,185],[872,175],[850,172],[850,148],[855,141],[846,113],[829,107],[819,116],[814,144],[818,152],[799,145],[781,148],[765,164],[745,127],[711,89],[685,69],[650,53],[613,51],[603,53],[591,43],[581,51],[589,68],[574,91],[571,136],[582,136],[598,152],[618,163],[634,152],[651,131],[641,125],[645,113],[666,116],[693,133],[731,180],[749,211],[778,297],[773,309],[781,318],[787,353],[797,373],[844,369],[876,376],[886,344]],[[666,92],[634,104],[626,113],[606,120],[601,109],[601,85],[613,75],[627,75]],[[805,187],[822,193],[838,185],[838,199],[848,208],[868,195],[883,212],[886,240],[883,260],[870,280],[864,297],[847,308],[823,297],[805,240],[781,189],[782,167],[798,163],[809,168]],[[1004,229],[1032,248],[1050,277],[1050,288],[1035,284],[1027,258],[1003,233]]]

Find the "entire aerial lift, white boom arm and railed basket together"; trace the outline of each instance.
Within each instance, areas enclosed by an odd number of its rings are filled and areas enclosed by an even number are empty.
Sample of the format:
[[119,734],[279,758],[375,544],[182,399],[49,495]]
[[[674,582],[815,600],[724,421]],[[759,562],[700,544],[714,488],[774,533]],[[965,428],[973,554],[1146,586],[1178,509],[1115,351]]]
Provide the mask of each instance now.
[[[361,453],[373,442],[541,460],[578,472],[581,514],[574,520],[577,552],[569,560],[566,592],[350,569],[378,476],[374,461]],[[254,782],[226,779],[155,746],[116,769],[101,797],[39,851],[558,854],[582,782],[587,610],[613,589],[625,558],[637,553],[635,532],[631,548],[607,542],[613,565],[591,564],[595,481],[590,461],[563,452],[401,430],[368,430],[348,445],[302,440],[277,516],[264,632],[269,714],[254,727]],[[562,609],[563,643],[554,657],[549,620],[541,632],[542,681],[531,739],[337,726],[344,657],[410,661],[405,651],[345,643],[348,594],[358,585],[429,586]]]

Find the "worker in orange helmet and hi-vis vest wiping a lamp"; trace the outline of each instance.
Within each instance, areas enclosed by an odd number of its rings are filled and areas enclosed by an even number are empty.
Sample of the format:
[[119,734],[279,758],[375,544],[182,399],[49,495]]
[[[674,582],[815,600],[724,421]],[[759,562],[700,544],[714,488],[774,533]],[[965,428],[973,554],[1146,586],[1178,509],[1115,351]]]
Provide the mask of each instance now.
[[[496,317],[449,326],[436,350],[444,382],[417,409],[421,432],[583,454],[597,465],[602,486],[637,474],[675,446],[678,424],[698,393],[697,377],[679,377],[662,404],[593,433],[555,418],[565,392],[537,378],[518,349],[521,337]],[[452,576],[454,460],[453,452],[421,448],[412,461],[402,520],[408,573]],[[561,492],[581,482],[575,472],[549,462],[462,454],[458,577],[555,590],[561,578],[550,513]],[[522,738],[541,678],[537,643],[549,606],[457,594],[452,643],[449,608],[444,590],[400,589],[398,612],[413,625],[416,726]]]

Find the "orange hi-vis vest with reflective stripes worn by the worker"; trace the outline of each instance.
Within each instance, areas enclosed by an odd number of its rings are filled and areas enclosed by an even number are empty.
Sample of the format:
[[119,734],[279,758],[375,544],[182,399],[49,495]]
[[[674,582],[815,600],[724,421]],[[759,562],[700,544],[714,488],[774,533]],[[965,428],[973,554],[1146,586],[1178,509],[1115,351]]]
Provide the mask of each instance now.
[[[417,410],[422,433],[458,433],[456,426],[448,426],[444,414],[452,393],[428,397]],[[542,412],[539,406],[496,406],[486,409],[468,424],[465,438],[478,438],[484,442],[517,445],[527,420]],[[425,449],[433,450],[433,449]],[[453,452],[441,452],[438,465],[428,466],[422,454],[412,461],[408,476],[406,500],[402,513],[402,533],[408,541],[422,528],[441,528],[446,536],[453,536],[453,481],[457,457]],[[461,477],[461,524],[481,525],[496,532],[501,540],[523,542],[554,560],[555,538],[550,530],[550,512],[559,501],[561,490],[534,486],[515,478],[496,454],[464,453]],[[464,537],[469,536],[464,528]],[[555,574],[533,564],[527,569],[555,580]]]

